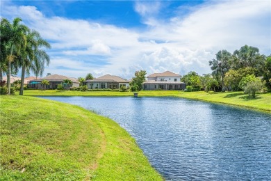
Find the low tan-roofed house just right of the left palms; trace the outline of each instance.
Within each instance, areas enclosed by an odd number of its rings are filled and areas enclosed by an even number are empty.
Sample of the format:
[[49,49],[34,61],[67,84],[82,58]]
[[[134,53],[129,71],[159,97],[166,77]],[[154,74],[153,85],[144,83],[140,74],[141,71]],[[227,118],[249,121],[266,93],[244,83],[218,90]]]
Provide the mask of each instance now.
[[[66,77],[64,75],[59,74],[53,74],[48,75],[47,77],[42,77],[38,79],[33,79],[29,81],[28,88],[38,88],[42,89],[44,86],[41,84],[43,80],[49,81],[49,85],[46,86],[48,89],[56,89],[58,87],[58,84],[63,84],[63,80],[69,79],[72,81],[72,85],[67,85],[68,88],[70,87],[79,87],[79,81],[76,80],[76,78]],[[63,86],[66,86],[63,84]]]

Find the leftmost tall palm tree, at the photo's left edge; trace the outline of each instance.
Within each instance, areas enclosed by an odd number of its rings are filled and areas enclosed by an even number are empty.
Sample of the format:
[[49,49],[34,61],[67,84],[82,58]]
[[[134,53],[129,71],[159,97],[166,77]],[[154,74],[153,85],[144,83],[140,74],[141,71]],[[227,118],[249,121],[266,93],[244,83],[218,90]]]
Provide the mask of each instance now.
[[8,56],[6,57],[5,63],[7,66],[7,84],[8,84],[8,94],[10,95],[10,74],[11,74],[11,63],[13,62],[15,56],[14,54],[19,54],[21,49],[26,47],[26,32],[28,27],[20,24],[22,19],[16,17],[13,19],[13,23],[10,24],[8,19],[1,19],[1,38],[5,40],[3,42]]

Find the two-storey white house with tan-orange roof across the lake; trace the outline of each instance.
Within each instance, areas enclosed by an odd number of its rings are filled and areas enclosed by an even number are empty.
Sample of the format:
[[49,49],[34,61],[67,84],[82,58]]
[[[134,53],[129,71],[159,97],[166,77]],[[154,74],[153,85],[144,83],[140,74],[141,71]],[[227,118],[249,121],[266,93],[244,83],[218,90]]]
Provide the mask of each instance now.
[[150,74],[147,81],[143,83],[143,88],[146,91],[151,90],[183,90],[186,88],[186,83],[181,82],[181,75],[170,71],[163,73]]

